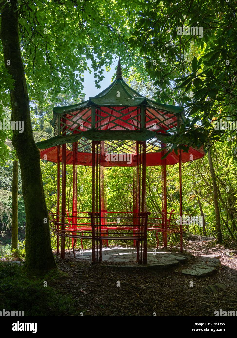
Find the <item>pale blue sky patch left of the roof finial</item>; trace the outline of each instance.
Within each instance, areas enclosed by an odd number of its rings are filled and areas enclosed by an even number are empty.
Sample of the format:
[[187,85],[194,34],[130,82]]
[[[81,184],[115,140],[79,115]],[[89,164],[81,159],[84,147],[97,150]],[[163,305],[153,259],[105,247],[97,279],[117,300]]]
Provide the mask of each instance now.
[[[88,61],[88,66],[91,66],[90,61]],[[117,63],[115,61],[115,64],[111,66],[111,70],[107,72],[103,72],[104,79],[100,82],[101,88],[95,87],[95,80],[97,78],[94,77],[94,71],[92,71],[92,74],[89,74],[89,72],[84,73],[84,93],[86,94],[85,100],[89,99],[89,96],[95,96],[102,92],[105,88],[109,87],[111,84],[112,76],[115,74],[117,68]]]

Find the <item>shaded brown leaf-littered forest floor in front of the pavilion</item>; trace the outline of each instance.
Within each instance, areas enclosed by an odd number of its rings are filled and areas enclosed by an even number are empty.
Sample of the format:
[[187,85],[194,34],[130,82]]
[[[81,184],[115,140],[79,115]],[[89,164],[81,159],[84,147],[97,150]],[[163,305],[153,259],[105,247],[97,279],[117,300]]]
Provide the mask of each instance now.
[[[75,309],[89,316],[214,316],[219,309],[237,311],[237,255],[227,252],[234,248],[194,241],[184,249],[191,254],[187,263],[159,270],[118,270],[81,262],[69,253],[64,261],[55,255],[58,268],[68,277],[49,284],[70,295]],[[171,252],[179,249],[173,247]],[[222,266],[213,275],[193,277],[181,272],[205,255],[220,256]],[[205,290],[217,283],[224,288],[214,293]]]

